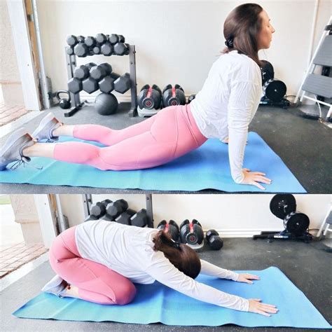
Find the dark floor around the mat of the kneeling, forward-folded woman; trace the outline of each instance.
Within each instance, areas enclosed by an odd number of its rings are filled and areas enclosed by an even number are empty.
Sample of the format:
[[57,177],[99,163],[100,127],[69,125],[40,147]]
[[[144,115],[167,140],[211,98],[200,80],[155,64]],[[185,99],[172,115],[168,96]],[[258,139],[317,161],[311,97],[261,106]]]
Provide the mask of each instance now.
[[[251,240],[226,238],[221,251],[205,249],[200,257],[230,270],[280,268],[301,289],[312,304],[332,323],[331,250],[321,242]],[[54,273],[48,262],[8,286],[1,295],[1,331],[291,331],[290,328],[181,327],[162,324],[135,325],[112,322],[53,321],[18,319],[11,315],[36,296]],[[6,305],[4,305],[6,304]],[[291,314],[291,313],[290,313]],[[302,331],[297,329],[297,331]],[[303,329],[303,331],[308,331]]]

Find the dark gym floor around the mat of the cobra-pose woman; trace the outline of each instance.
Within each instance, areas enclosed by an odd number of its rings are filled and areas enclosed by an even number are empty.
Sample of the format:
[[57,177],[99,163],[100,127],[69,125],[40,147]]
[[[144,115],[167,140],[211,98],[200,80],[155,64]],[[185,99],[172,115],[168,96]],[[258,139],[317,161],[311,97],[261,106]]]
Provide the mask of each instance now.
[[[121,104],[127,108],[128,104]],[[66,124],[93,123],[102,124],[113,129],[122,129],[142,119],[129,118],[121,109],[112,116],[100,116],[93,106],[85,106],[74,116],[64,118],[64,110],[59,107],[51,109],[55,116]],[[332,177],[332,137],[331,129],[317,120],[304,118],[296,108],[281,109],[272,106],[259,106],[256,116],[249,126],[250,131],[258,132],[275,151],[291,172],[300,181],[308,193],[331,193]],[[26,127],[32,132],[43,117],[30,120]],[[7,136],[6,136],[7,137]],[[2,138],[0,145],[4,144]],[[52,186],[52,193],[86,193],[84,187]],[[144,193],[141,190],[117,190],[112,188],[89,188],[89,193]],[[48,186],[30,184],[1,184],[1,193],[50,193]],[[151,193],[167,193],[149,191]],[[170,192],[168,192],[170,193]],[[172,193],[223,193],[205,190],[200,192]]]

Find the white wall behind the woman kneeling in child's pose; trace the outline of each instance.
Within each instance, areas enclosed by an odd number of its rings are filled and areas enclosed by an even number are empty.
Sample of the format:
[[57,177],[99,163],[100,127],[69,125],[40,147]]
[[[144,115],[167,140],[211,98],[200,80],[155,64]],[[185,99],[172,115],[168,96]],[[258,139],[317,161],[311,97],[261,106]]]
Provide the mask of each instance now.
[[[83,206],[78,214],[81,195],[65,196],[65,214],[70,226],[83,222]],[[215,228],[223,237],[251,237],[262,230],[283,230],[282,220],[270,212],[273,195],[152,195],[153,218],[156,227],[162,219],[181,223],[198,219],[203,229]],[[297,209],[310,218],[310,228],[319,228],[331,204],[332,195],[295,195]],[[132,209],[146,206],[145,195],[92,195],[98,202],[109,198],[127,200]],[[63,201],[64,201],[63,200]]]

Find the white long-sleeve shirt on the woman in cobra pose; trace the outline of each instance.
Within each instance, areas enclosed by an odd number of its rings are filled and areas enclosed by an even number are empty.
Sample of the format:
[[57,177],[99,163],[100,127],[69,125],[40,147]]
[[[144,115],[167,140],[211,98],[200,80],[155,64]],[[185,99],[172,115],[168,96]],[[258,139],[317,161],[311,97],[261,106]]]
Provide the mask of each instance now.
[[191,102],[191,112],[207,138],[226,139],[230,172],[240,184],[249,123],[262,95],[261,69],[247,55],[233,50],[212,65],[209,75]]

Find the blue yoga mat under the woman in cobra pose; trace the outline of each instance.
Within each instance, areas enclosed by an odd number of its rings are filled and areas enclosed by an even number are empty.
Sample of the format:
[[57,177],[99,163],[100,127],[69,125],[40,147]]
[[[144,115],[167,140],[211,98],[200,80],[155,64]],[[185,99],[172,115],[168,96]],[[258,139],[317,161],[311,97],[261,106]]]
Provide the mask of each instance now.
[[[69,164],[48,158],[33,158],[30,165],[43,166],[43,170],[28,166],[18,167],[14,171],[5,170],[0,173],[0,181],[10,184],[138,188],[151,191],[216,189],[229,192],[261,192],[254,186],[235,184],[230,177],[228,146],[218,139],[209,139],[195,151],[166,165],[148,170],[101,171],[88,165]],[[255,132],[250,132],[248,136],[244,167],[265,172],[266,176],[272,179],[272,184],[264,185],[265,192],[306,193],[279,156]]]

